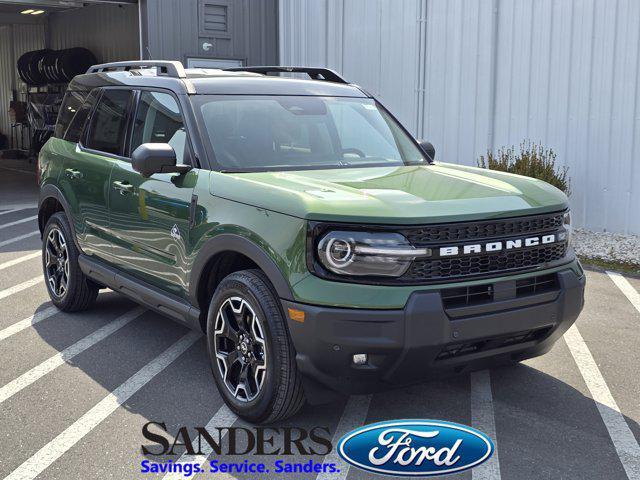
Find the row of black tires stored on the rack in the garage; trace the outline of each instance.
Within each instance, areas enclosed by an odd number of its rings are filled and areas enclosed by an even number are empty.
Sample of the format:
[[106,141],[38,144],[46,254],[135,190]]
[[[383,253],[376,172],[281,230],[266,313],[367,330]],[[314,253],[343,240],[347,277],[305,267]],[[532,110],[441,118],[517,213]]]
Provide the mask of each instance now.
[[97,63],[96,57],[86,48],[64,50],[34,50],[18,59],[18,75],[31,86],[49,83],[68,83],[76,75],[85,73]]

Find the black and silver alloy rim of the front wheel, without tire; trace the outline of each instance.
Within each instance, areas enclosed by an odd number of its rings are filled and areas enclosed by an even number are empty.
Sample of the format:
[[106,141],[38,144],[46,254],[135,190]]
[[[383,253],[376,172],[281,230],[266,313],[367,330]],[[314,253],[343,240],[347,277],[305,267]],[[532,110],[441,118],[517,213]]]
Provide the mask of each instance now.
[[216,363],[229,392],[241,402],[255,399],[267,373],[262,322],[249,303],[229,297],[218,309],[214,330]]

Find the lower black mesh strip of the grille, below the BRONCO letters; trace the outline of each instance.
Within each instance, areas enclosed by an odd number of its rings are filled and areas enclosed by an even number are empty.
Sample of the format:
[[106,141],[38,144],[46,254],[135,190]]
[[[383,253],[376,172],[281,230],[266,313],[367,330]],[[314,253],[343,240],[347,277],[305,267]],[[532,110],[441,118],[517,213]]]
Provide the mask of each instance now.
[[467,257],[415,260],[400,277],[406,282],[450,280],[452,278],[486,275],[490,273],[526,270],[554,260],[567,253],[566,243],[543,245],[536,248],[508,250]]

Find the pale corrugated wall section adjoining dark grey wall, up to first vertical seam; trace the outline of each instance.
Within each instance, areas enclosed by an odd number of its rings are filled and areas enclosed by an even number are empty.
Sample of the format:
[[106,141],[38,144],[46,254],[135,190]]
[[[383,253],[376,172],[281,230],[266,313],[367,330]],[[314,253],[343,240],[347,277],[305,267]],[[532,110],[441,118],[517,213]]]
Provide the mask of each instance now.
[[415,131],[415,0],[280,2],[280,64],[328,66],[389,105]]

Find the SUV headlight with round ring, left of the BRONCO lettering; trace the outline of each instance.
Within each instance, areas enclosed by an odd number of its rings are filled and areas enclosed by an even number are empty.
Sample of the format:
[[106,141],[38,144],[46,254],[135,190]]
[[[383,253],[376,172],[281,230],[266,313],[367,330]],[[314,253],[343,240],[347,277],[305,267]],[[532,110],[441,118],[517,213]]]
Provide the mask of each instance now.
[[317,253],[320,263],[338,275],[399,277],[431,250],[414,248],[399,233],[331,231],[318,242]]

